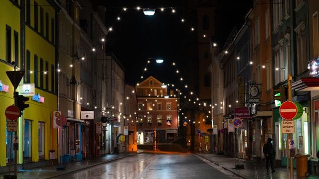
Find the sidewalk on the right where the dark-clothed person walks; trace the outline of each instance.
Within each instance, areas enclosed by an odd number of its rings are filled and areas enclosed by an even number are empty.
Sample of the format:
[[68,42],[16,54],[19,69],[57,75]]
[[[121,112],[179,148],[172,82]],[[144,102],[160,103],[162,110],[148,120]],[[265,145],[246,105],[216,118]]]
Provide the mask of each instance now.
[[[266,162],[261,162],[257,164],[253,161],[237,159],[237,164],[243,164],[244,169],[236,170],[234,158],[216,154],[196,154],[209,160],[212,163],[215,163],[216,165],[221,166],[223,169],[228,170],[243,179],[287,179],[286,167],[276,167],[276,172],[272,174],[271,172],[266,172]],[[296,169],[294,169],[294,179],[319,179],[319,176],[311,175],[310,177],[297,178]]]

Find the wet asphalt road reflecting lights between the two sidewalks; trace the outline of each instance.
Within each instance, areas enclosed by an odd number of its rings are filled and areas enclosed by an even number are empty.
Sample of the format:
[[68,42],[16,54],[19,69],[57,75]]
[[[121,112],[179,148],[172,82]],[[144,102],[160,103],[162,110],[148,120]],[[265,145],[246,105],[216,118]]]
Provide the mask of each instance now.
[[144,153],[55,179],[237,179],[206,162],[193,154]]

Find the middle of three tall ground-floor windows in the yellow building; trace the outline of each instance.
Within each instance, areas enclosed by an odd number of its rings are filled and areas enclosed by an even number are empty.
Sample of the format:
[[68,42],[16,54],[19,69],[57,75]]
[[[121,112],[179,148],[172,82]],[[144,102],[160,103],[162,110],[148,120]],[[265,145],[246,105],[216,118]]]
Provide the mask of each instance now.
[[24,120],[24,161],[32,159],[32,121]]

